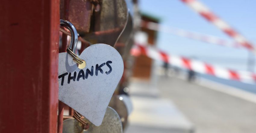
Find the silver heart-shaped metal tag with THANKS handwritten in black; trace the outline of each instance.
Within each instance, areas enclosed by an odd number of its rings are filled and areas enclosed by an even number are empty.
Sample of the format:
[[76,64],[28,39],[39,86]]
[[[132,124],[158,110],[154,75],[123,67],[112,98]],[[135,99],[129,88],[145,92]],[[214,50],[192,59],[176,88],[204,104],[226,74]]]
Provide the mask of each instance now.
[[111,96],[123,75],[123,60],[113,47],[94,44],[79,56],[79,69],[66,52],[59,53],[59,100],[100,126]]

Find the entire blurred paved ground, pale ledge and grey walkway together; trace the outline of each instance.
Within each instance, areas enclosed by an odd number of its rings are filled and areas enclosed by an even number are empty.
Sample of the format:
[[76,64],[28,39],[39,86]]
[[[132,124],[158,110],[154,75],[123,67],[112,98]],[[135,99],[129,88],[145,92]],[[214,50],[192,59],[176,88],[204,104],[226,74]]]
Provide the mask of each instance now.
[[154,73],[153,81],[130,84],[134,110],[125,133],[255,133],[255,94]]

